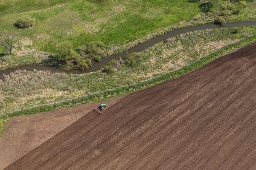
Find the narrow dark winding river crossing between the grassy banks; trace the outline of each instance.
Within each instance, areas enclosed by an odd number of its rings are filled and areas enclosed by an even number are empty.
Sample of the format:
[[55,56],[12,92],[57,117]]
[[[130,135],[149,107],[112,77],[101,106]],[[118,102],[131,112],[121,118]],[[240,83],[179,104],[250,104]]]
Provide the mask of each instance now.
[[143,44],[137,45],[127,51],[124,51],[120,54],[116,54],[116,55],[112,55],[110,57],[105,57],[102,58],[100,62],[97,62],[95,64],[93,64],[90,68],[88,68],[86,71],[79,71],[79,70],[61,70],[60,68],[55,68],[55,67],[48,67],[48,66],[44,66],[44,65],[26,65],[26,66],[22,66],[19,68],[9,68],[6,69],[4,71],[0,71],[0,77],[3,74],[10,74],[13,71],[16,70],[27,70],[27,71],[33,71],[34,69],[36,70],[42,70],[42,71],[46,71],[46,70],[50,70],[52,72],[65,72],[67,74],[84,74],[84,73],[90,73],[93,71],[97,71],[100,68],[102,68],[103,66],[107,65],[108,62],[111,61],[111,59],[119,59],[119,57],[125,58],[127,56],[127,52],[129,54],[133,53],[133,52],[140,52],[145,50],[148,47],[151,47],[152,45],[156,44],[157,42],[166,40],[167,38],[170,37],[175,37],[179,34],[183,34],[189,31],[196,31],[196,30],[204,30],[204,29],[214,29],[214,28],[233,28],[233,27],[242,27],[242,26],[256,26],[256,21],[252,21],[252,22],[241,22],[241,23],[227,23],[224,26],[220,26],[217,24],[205,24],[202,26],[194,26],[194,27],[189,27],[189,28],[182,28],[182,29],[177,29],[175,31],[172,32],[168,32],[166,34],[163,34],[159,37],[155,37],[154,39],[151,39],[147,42],[144,42]]

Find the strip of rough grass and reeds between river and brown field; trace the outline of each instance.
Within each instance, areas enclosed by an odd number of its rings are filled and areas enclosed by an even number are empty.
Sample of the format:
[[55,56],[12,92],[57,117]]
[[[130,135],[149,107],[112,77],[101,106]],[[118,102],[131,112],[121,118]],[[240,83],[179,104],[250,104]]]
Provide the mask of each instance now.
[[141,52],[137,67],[119,60],[112,74],[16,71],[0,81],[0,119],[129,94],[180,77],[255,40],[255,26],[192,31]]

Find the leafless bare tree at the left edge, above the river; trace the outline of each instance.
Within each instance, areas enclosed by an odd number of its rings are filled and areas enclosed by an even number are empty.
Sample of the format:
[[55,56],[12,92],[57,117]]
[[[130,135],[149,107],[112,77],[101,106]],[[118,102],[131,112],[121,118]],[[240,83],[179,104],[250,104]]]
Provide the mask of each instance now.
[[0,45],[2,45],[3,48],[6,48],[6,50],[9,51],[10,54],[12,54],[14,38],[15,38],[15,33],[13,31],[11,32],[0,31]]

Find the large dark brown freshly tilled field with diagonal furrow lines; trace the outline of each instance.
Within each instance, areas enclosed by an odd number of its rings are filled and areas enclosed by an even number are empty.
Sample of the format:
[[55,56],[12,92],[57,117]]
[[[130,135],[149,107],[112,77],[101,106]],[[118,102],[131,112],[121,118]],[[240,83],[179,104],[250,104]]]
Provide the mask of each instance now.
[[90,112],[6,170],[256,169],[256,43]]

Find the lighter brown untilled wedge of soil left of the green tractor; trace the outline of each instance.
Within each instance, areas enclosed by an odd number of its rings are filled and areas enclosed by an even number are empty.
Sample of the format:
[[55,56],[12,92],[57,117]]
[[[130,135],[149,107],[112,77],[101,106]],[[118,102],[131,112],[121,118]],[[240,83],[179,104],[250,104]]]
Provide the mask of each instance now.
[[[122,98],[116,97],[103,102],[111,106]],[[14,117],[8,122],[8,127],[0,138],[0,170],[76,122],[101,103],[93,102],[66,110]]]

